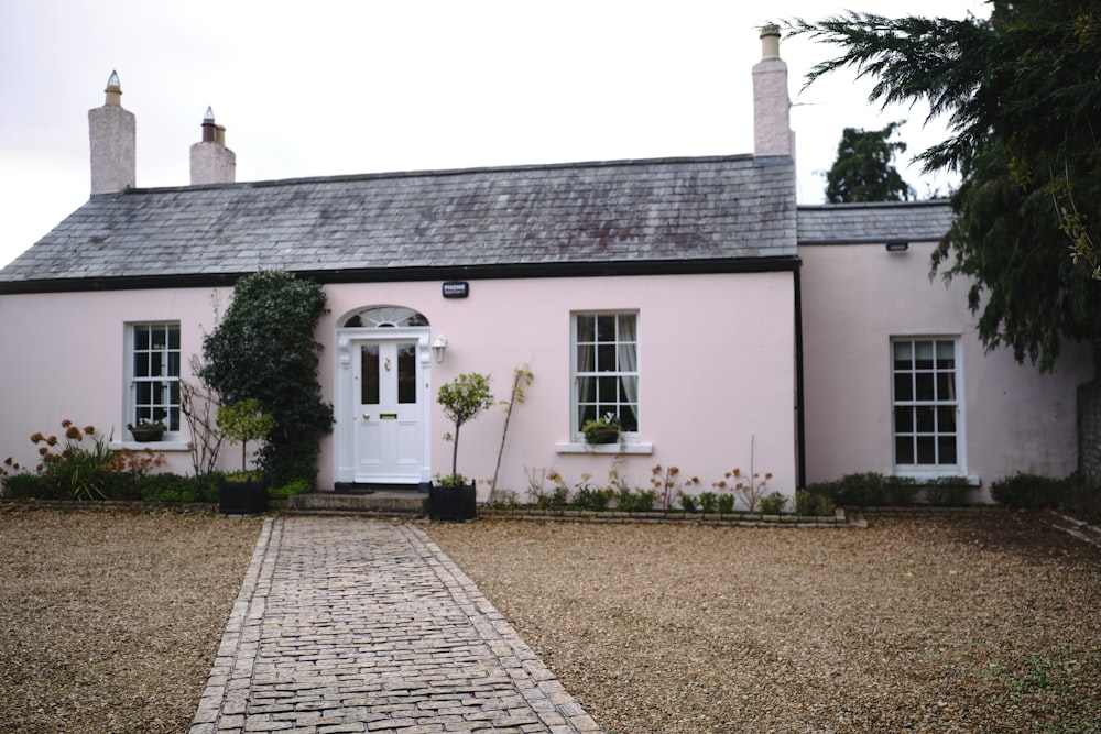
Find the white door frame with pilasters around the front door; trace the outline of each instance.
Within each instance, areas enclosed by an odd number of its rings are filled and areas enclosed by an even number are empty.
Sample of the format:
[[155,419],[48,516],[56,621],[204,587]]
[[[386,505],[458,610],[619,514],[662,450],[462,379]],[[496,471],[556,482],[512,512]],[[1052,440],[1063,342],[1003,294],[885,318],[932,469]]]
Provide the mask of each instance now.
[[362,344],[371,342],[415,341],[417,368],[421,380],[417,382],[417,406],[421,408],[421,467],[417,483],[410,484],[422,491],[427,491],[432,483],[432,348],[429,346],[430,329],[419,327],[386,327],[363,328],[350,327],[337,329],[336,349],[336,394],[334,406],[334,438],[336,443],[336,484],[350,485],[356,483],[356,427],[358,416],[353,409],[356,386],[353,384],[355,354]]

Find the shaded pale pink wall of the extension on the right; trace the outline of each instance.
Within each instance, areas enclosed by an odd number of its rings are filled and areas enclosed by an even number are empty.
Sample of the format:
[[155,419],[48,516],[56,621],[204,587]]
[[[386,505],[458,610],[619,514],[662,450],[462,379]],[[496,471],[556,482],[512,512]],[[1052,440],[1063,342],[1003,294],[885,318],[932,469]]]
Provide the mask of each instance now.
[[983,485],[1017,471],[1065,476],[1077,462],[1075,403],[1092,376],[1089,351],[1064,346],[1054,374],[986,354],[967,285],[929,281],[935,243],[804,245],[807,479],[892,472],[891,338],[961,336],[967,469]]

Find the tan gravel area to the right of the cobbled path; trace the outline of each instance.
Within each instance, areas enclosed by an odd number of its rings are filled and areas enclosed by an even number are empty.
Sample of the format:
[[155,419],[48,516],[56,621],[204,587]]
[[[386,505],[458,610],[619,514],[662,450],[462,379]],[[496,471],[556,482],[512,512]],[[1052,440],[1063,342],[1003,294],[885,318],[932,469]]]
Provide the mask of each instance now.
[[1101,551],[1040,518],[427,530],[609,734],[1101,732]]

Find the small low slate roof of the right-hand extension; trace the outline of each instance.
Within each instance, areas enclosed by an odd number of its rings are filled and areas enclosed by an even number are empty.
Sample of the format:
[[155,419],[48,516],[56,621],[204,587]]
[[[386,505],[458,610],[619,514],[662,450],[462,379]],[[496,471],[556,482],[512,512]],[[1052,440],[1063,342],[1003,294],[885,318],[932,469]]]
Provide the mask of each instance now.
[[825,204],[798,209],[799,244],[936,242],[952,223],[947,201]]

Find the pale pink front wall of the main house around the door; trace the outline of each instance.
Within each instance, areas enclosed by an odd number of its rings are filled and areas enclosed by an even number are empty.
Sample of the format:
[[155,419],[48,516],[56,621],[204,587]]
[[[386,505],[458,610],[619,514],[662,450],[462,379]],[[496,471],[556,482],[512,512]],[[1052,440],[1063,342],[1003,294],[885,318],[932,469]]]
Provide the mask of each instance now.
[[[569,441],[571,310],[639,311],[642,440],[650,454],[622,459],[621,474],[647,486],[655,464],[698,476],[700,490],[734,467],[772,472],[770,489],[795,489],[794,295],[791,273],[470,281],[466,299],[445,299],[440,282],[326,286],[329,313],[318,327],[326,346],[320,379],[334,399],[334,339],[347,313],[371,305],[407,306],[424,314],[433,339],[448,337],[447,357],[433,365],[433,395],[461,372],[492,375],[508,397],[512,370],[530,365],[535,380],[513,414],[500,486],[523,492],[527,471],[554,469],[574,484],[582,473],[603,482],[613,457],[563,453]],[[69,418],[123,435],[123,333],[132,321],[178,320],[182,355],[198,353],[215,325],[211,288],[0,296],[0,459],[33,465],[34,431],[58,431]],[[218,292],[221,308],[230,292]],[[450,430],[438,406],[429,428],[433,471],[450,471]],[[462,428],[459,471],[489,492],[504,410],[493,408]],[[338,426],[339,430],[340,427]],[[224,450],[225,464],[239,453]],[[190,472],[186,452],[168,453],[166,469]],[[334,479],[331,437],[323,443],[319,486]]]

